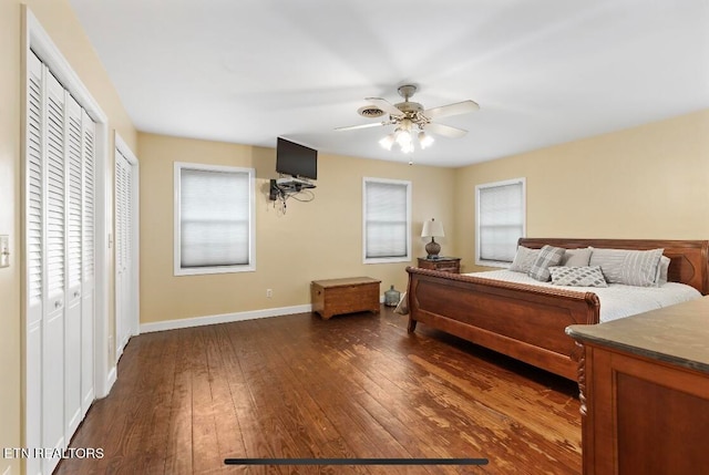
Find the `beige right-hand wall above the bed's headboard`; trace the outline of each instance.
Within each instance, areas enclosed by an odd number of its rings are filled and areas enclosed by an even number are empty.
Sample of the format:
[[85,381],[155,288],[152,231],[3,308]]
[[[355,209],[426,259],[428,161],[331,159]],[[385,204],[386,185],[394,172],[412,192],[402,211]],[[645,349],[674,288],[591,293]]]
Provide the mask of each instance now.
[[525,177],[527,236],[709,239],[709,110],[461,168],[455,241],[474,267],[475,185]]

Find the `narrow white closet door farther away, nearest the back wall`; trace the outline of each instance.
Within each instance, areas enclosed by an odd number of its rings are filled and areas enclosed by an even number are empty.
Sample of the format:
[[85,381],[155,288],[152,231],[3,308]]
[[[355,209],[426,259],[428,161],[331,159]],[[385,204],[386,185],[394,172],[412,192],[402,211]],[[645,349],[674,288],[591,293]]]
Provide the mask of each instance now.
[[133,334],[133,166],[115,154],[115,326],[116,359]]

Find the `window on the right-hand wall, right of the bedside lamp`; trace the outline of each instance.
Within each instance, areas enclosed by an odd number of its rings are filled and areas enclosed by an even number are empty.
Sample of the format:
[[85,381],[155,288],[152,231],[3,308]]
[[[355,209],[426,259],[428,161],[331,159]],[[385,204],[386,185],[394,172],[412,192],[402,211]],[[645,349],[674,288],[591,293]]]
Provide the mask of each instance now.
[[526,229],[524,178],[477,185],[475,203],[475,264],[510,265]]

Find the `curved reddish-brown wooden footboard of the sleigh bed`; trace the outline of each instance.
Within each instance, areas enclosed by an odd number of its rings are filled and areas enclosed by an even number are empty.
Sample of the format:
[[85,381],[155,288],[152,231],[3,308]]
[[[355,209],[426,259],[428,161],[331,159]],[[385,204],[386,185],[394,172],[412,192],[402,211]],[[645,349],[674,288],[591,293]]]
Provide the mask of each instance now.
[[593,292],[538,288],[408,267],[409,332],[417,322],[576,380],[580,349],[565,329],[598,323]]

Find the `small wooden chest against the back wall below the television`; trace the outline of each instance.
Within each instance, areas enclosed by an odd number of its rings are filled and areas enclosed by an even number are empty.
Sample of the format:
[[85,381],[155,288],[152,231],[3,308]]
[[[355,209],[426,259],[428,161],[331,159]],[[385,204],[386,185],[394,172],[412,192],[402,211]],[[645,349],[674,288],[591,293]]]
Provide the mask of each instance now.
[[380,282],[370,277],[314,280],[310,283],[312,311],[320,313],[325,320],[342,313],[379,313]]

